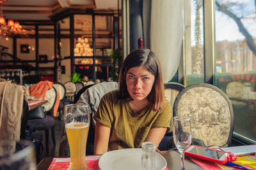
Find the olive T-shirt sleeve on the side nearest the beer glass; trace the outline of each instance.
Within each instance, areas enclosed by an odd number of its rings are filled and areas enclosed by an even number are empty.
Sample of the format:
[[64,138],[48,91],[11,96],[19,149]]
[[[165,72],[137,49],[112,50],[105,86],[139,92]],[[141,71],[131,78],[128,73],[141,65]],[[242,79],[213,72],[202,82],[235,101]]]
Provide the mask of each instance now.
[[100,123],[109,128],[112,127],[113,122],[113,109],[111,107],[112,100],[113,99],[111,98],[111,95],[109,93],[104,95],[104,97],[102,97],[100,100],[97,113],[93,117],[95,121],[99,121]]

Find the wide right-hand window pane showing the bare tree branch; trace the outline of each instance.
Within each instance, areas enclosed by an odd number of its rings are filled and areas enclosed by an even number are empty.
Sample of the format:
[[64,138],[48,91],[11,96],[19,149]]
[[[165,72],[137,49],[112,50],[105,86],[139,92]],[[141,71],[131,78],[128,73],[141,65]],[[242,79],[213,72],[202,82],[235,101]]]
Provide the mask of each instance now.
[[225,91],[233,105],[234,136],[254,143],[256,143],[255,6],[253,0],[233,3],[216,0],[214,62],[215,85]]

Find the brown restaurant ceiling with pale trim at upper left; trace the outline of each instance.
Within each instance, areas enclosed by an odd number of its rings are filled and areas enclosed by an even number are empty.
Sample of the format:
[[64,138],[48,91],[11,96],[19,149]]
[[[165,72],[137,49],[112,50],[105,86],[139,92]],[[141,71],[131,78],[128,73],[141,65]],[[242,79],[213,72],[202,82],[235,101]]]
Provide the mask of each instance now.
[[5,19],[51,21],[49,16],[67,8],[108,10],[117,8],[118,1],[120,0],[8,0],[2,10]]

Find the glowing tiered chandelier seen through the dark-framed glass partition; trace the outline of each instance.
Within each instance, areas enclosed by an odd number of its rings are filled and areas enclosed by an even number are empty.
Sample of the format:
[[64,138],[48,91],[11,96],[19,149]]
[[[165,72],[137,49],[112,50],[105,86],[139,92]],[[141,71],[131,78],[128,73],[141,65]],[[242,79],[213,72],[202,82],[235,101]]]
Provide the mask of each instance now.
[[[83,25],[90,24],[90,21],[76,20],[76,24],[81,24],[83,31]],[[83,35],[76,40],[74,56],[93,56],[93,49],[90,47],[88,38],[85,38]]]

